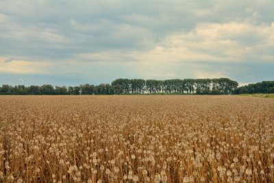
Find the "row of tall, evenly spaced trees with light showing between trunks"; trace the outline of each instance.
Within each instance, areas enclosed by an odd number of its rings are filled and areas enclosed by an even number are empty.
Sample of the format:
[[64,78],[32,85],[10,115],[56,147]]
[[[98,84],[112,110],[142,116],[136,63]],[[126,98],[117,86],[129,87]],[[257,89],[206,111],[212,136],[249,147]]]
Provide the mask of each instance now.
[[185,80],[117,79],[112,82],[114,92],[127,93],[181,93],[228,94],[238,87],[238,82],[228,78]]

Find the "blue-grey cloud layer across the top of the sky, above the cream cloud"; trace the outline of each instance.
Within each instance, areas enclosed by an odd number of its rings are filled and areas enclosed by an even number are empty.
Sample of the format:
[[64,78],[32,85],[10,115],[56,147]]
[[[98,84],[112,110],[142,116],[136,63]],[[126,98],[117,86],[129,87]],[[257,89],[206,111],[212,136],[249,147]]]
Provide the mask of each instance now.
[[[5,29],[1,54],[15,49],[21,55],[59,59],[88,50],[149,49],[166,34],[192,29],[203,21],[245,21],[265,5],[238,1],[1,1],[0,7],[9,19],[1,28]],[[73,20],[78,29],[71,25]],[[40,34],[47,30],[64,41],[47,40]],[[62,50],[52,53],[58,47]]]

